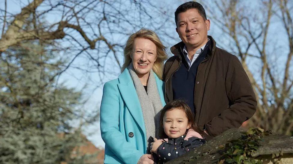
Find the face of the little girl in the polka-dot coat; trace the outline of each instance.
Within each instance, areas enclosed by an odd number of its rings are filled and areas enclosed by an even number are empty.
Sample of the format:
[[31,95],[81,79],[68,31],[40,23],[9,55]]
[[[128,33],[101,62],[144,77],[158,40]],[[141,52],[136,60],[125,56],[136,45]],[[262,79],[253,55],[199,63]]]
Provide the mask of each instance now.
[[163,126],[165,134],[170,138],[178,138],[183,136],[186,129],[190,128],[190,124],[182,109],[172,108],[166,111],[163,117]]

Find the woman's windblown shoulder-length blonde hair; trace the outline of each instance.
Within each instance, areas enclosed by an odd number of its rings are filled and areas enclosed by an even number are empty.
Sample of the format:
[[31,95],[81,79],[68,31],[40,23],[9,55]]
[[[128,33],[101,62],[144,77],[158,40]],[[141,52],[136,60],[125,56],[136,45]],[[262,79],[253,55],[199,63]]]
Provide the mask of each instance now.
[[166,54],[167,47],[163,45],[158,35],[154,31],[146,29],[146,28],[142,28],[138,30],[136,33],[131,34],[131,36],[129,36],[129,38],[127,39],[127,42],[124,48],[124,63],[122,65],[121,72],[123,72],[125,68],[127,68],[129,64],[131,63],[130,55],[134,51],[133,50],[134,40],[136,38],[149,39],[156,45],[157,59],[154,62],[152,69],[156,73],[156,75],[159,77],[159,79],[162,79],[164,60],[167,59],[167,54]]

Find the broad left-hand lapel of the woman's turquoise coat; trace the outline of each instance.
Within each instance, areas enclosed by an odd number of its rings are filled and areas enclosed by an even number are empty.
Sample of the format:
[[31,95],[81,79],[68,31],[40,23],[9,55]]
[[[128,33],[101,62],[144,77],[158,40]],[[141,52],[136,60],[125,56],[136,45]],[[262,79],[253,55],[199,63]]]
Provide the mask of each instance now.
[[143,131],[143,134],[146,136],[146,128],[144,125],[140,102],[127,68],[125,68],[125,70],[119,75],[118,80],[118,88],[121,93],[122,99],[124,100],[132,117]]

